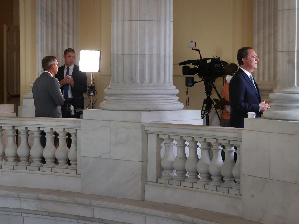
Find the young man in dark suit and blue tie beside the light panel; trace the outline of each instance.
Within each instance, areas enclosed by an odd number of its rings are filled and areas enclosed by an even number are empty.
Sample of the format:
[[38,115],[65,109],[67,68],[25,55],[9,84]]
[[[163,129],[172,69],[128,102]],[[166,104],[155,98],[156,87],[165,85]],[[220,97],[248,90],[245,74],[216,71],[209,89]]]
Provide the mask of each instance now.
[[86,73],[79,70],[79,66],[74,64],[76,52],[72,48],[65,49],[64,61],[65,65],[58,68],[55,76],[61,86],[61,93],[65,98],[62,106],[62,117],[79,118],[79,114],[71,115],[69,106],[76,108],[84,108],[83,93],[86,92]]

